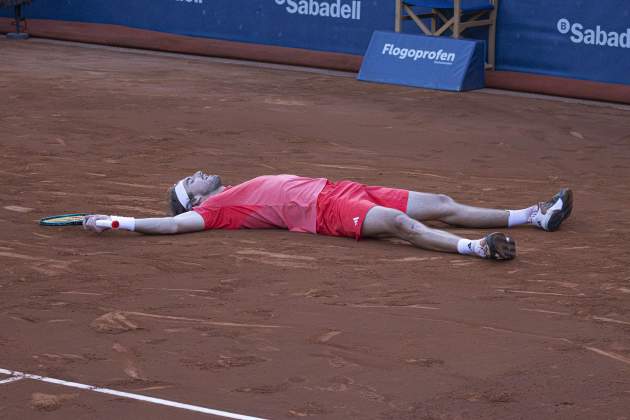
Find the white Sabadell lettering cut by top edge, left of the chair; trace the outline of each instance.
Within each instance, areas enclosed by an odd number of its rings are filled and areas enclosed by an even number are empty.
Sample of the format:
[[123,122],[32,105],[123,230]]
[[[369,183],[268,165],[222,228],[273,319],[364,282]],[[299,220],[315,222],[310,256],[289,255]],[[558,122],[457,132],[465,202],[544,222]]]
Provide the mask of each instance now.
[[274,0],[292,15],[361,20],[361,0]]

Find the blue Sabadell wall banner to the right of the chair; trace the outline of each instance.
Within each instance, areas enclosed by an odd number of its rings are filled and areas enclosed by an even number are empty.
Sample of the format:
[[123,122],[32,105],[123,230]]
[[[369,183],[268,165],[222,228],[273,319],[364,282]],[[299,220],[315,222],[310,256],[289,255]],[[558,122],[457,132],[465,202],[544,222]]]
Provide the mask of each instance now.
[[497,69],[630,84],[630,2],[501,2]]

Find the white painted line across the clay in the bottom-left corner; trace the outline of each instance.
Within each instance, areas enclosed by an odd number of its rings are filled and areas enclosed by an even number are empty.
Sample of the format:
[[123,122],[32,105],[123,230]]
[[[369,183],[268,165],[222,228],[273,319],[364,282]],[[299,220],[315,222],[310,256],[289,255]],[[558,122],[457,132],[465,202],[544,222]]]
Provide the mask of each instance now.
[[189,410],[189,411],[196,411],[198,413],[212,414],[219,417],[227,417],[227,418],[238,419],[238,420],[264,420],[260,417],[251,417],[251,416],[245,416],[243,414],[229,413],[227,411],[215,410],[212,408],[200,407],[197,405],[183,404],[183,403],[178,403],[176,401],[163,400],[162,398],[147,397],[145,395],[132,394],[130,392],[123,392],[123,391],[116,391],[116,390],[108,389],[108,388],[99,388],[93,385],[84,385],[77,382],[68,382],[61,379],[47,378],[45,376],[39,376],[39,375],[31,375],[30,373],[17,372],[17,371],[8,370],[8,369],[0,368],[0,373],[12,376],[12,378],[5,379],[3,382],[9,381],[9,380],[13,382],[20,379],[34,379],[36,381],[42,381],[42,382],[47,382],[47,383],[56,384],[56,385],[68,386],[71,388],[85,389],[87,391],[99,392],[101,394],[115,395],[117,397],[129,398],[129,399],[138,400],[138,401],[146,401],[153,404],[166,405],[169,407],[181,408],[181,409]]

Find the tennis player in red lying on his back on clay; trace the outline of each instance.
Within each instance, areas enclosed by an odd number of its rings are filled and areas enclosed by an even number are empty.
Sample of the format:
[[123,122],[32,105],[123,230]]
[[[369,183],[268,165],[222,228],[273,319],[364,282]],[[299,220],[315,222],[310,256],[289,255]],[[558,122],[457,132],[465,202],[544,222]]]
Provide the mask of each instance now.
[[288,229],[320,235],[359,238],[394,237],[434,251],[509,260],[514,240],[503,233],[465,239],[424,225],[441,222],[470,228],[505,228],[529,224],[554,231],[571,214],[572,192],[521,210],[496,210],[459,204],[443,194],[376,187],[352,181],[295,175],[260,176],[224,186],[217,175],[196,172],[169,190],[172,217],[91,215],[85,229],[124,229],[174,234],[209,229]]

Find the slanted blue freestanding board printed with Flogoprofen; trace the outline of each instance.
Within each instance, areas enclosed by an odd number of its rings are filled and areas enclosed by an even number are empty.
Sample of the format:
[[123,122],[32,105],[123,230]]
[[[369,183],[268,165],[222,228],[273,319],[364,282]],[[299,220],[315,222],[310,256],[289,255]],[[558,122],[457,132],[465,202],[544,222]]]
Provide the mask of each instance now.
[[463,91],[484,87],[479,41],[376,31],[359,80]]

